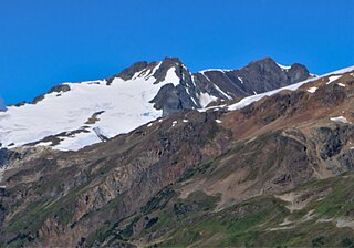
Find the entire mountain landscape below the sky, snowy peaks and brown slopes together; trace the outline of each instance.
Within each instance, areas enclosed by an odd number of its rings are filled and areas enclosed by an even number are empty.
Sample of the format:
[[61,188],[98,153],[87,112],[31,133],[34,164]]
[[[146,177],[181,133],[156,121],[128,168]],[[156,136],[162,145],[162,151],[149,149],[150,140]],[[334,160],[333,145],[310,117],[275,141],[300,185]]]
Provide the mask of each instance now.
[[138,62],[0,113],[2,247],[353,247],[354,66]]

